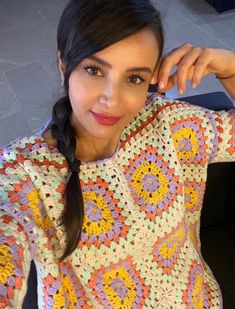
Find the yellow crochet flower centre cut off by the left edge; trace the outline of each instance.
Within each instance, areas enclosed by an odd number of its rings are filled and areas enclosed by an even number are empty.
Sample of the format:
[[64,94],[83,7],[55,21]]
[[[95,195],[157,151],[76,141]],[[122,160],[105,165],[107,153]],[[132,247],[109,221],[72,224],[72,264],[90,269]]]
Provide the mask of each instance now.
[[0,243],[0,284],[6,284],[14,272],[15,266],[12,262],[10,248]]

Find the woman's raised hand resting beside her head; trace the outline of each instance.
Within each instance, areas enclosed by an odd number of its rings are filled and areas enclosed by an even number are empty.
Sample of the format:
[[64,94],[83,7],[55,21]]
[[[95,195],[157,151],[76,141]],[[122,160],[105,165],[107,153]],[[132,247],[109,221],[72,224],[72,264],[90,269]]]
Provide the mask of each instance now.
[[[177,66],[177,70],[171,73],[174,66]],[[192,87],[195,88],[208,74],[223,77],[234,73],[234,52],[184,44],[171,50],[159,60],[156,79],[159,92],[167,92],[177,85],[179,93],[183,94],[187,81],[191,81]]]

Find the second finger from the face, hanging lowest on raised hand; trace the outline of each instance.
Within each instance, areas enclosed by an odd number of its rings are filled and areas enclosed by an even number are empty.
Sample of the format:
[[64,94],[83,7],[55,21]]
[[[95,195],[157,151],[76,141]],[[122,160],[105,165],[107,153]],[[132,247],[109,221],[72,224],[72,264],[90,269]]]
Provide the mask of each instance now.
[[179,93],[183,94],[186,90],[186,84],[188,80],[193,77],[194,64],[197,62],[202,48],[193,47],[187,54],[183,56],[177,65],[177,86]]

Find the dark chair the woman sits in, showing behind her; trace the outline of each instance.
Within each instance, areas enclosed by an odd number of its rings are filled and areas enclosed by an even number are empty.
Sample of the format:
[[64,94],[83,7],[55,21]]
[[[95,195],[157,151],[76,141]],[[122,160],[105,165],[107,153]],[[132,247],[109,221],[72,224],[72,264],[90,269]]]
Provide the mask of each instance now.
[[[156,91],[151,86],[150,91]],[[179,98],[213,110],[228,110],[232,102],[223,92]],[[235,163],[213,163],[208,168],[201,214],[202,255],[211,267],[224,299],[224,309],[235,308]],[[37,307],[37,276],[31,263],[23,309]]]

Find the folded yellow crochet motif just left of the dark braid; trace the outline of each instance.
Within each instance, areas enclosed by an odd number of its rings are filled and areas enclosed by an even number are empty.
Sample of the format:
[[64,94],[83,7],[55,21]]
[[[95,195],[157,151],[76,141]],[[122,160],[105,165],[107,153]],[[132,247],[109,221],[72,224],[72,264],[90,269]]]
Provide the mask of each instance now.
[[29,207],[33,210],[33,218],[38,227],[42,228],[44,231],[49,229],[52,226],[52,222],[48,216],[44,219],[40,217],[40,212],[38,208],[38,204],[40,202],[40,198],[38,195],[38,190],[33,189],[27,194],[29,200]]

